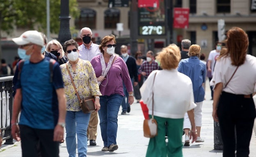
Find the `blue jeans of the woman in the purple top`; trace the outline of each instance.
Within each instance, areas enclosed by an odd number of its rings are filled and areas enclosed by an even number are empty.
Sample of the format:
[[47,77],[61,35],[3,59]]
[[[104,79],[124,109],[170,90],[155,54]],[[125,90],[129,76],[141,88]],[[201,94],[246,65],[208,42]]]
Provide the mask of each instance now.
[[123,96],[113,94],[100,96],[101,109],[98,111],[100,117],[101,137],[104,147],[117,144],[117,116]]

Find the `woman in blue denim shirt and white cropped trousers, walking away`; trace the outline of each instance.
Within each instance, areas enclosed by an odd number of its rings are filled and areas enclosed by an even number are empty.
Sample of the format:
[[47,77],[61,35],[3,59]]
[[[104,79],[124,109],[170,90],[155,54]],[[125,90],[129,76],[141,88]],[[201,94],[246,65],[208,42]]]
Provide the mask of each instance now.
[[[194,108],[195,124],[197,128],[197,140],[196,142],[204,142],[201,138],[201,126],[202,126],[202,105],[204,100],[205,91],[203,89],[203,83],[206,78],[206,64],[199,60],[201,48],[199,45],[194,44],[190,46],[188,55],[190,58],[183,59],[178,65],[178,71],[190,77],[193,84],[194,102],[197,107]],[[190,119],[187,115],[184,117],[184,132],[185,143],[184,146],[190,146],[189,130]]]

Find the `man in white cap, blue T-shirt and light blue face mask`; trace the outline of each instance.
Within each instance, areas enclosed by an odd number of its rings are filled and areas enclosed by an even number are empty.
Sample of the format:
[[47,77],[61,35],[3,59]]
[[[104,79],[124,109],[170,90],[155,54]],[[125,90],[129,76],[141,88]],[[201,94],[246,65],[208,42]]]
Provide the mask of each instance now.
[[[59,64],[53,63],[51,76],[51,59],[41,53],[44,44],[38,31],[26,31],[12,40],[19,45],[18,55],[23,60],[17,64],[15,72],[19,78],[11,135],[17,141],[22,139],[23,157],[36,157],[39,141],[42,157],[58,157],[66,116],[66,97]],[[20,111],[20,122],[17,124]]]

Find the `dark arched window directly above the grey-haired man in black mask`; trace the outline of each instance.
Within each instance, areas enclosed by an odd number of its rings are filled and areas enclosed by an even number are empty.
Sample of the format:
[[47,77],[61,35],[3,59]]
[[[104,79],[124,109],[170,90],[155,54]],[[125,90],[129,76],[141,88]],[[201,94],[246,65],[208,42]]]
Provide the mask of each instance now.
[[80,17],[75,19],[75,28],[82,29],[89,27],[96,29],[96,11],[89,8],[81,9]]

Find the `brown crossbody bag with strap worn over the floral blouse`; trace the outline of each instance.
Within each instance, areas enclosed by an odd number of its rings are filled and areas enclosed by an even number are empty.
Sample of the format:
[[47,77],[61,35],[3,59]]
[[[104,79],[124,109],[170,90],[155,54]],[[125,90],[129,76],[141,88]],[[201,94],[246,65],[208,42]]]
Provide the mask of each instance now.
[[71,73],[69,71],[68,63],[66,63],[66,68],[68,70],[71,82],[72,82],[72,84],[74,86],[75,94],[78,96],[78,100],[80,102],[80,107],[82,108],[82,112],[83,113],[91,113],[91,112],[95,111],[96,110],[95,106],[94,106],[95,97],[94,96],[88,96],[88,97],[85,97],[83,100],[81,100],[80,96],[78,94],[78,91],[76,90],[75,83],[73,81]]

